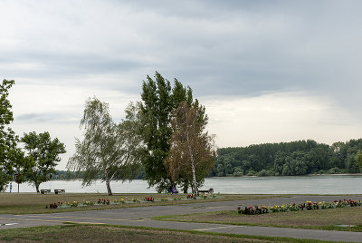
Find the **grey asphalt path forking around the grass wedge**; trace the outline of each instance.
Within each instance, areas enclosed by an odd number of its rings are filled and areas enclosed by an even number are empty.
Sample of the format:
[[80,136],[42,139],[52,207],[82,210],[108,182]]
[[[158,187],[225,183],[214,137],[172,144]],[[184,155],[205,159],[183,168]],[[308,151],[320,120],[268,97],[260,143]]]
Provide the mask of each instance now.
[[311,201],[333,201],[334,199],[362,199],[361,197],[340,196],[291,196],[275,199],[250,199],[217,202],[178,204],[174,206],[151,206],[127,209],[107,209],[93,211],[64,212],[52,214],[0,215],[0,229],[24,228],[44,225],[61,225],[65,222],[87,224],[110,224],[221,232],[254,236],[309,238],[330,241],[362,242],[362,232],[314,230],[300,228],[248,227],[224,224],[170,222],[150,218],[164,215],[178,215],[221,210],[233,210],[238,206],[280,205]]

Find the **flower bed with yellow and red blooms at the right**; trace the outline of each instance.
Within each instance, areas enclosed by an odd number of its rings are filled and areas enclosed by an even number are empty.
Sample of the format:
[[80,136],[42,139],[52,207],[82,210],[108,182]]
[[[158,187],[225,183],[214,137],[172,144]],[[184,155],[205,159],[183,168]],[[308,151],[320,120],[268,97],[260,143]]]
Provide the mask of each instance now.
[[301,211],[301,210],[312,210],[312,209],[336,209],[336,208],[346,208],[346,207],[357,207],[362,206],[361,200],[351,200],[351,199],[339,199],[333,202],[311,202],[307,200],[305,203],[300,204],[283,204],[275,205],[271,207],[266,206],[254,206],[254,207],[245,207],[242,209],[238,207],[239,214],[254,215],[254,214],[263,214],[271,212],[289,212],[289,211]]

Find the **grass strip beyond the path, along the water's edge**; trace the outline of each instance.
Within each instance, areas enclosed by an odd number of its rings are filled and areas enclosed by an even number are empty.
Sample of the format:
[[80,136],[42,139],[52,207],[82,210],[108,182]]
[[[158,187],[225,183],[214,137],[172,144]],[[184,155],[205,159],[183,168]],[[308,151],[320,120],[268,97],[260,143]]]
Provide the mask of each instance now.
[[[110,205],[94,205],[87,207],[66,208],[66,209],[45,209],[47,204],[57,203],[62,201],[66,202],[78,201],[93,201],[97,202],[98,199],[109,199],[110,202],[114,200],[131,200],[131,199],[144,199],[145,197],[153,197],[155,199],[168,199],[167,201],[155,202],[140,202],[140,203],[125,203],[125,204],[110,204]],[[173,205],[179,203],[195,203],[204,201],[219,201],[219,200],[235,200],[235,199],[265,199],[275,198],[277,196],[258,196],[258,195],[221,195],[214,199],[186,199],[184,194],[115,194],[108,196],[107,194],[88,194],[88,193],[65,193],[65,194],[34,194],[34,193],[0,193],[0,214],[27,214],[27,213],[52,213],[52,212],[65,212],[65,211],[79,211],[79,210],[96,210],[96,209],[118,209],[129,207],[142,207],[152,205]]]

